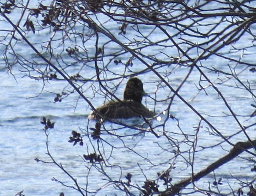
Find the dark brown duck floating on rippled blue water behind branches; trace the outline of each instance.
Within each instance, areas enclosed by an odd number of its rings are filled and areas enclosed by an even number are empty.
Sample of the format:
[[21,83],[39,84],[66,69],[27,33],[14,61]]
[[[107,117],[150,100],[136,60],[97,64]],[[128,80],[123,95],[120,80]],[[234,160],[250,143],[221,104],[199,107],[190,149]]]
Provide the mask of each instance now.
[[123,100],[110,101],[92,111],[88,115],[89,120],[93,119],[129,119],[133,117],[155,116],[155,112],[147,109],[142,103],[145,95],[142,81],[137,77],[132,77],[127,81]]

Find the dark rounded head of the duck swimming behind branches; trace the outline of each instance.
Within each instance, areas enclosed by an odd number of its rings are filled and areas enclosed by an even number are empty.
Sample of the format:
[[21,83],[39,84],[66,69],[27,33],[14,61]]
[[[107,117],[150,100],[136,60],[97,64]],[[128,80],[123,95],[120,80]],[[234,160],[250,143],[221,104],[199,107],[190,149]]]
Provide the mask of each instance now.
[[133,100],[134,102],[141,103],[144,94],[143,84],[139,78],[130,78],[127,81],[124,100]]

